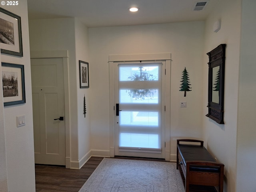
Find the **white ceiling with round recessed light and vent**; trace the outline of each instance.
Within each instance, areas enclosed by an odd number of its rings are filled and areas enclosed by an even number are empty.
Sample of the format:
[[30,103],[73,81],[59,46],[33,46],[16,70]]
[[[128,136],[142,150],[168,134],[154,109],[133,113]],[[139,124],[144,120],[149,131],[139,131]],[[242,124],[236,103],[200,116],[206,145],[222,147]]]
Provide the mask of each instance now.
[[[28,0],[29,19],[79,18],[88,27],[129,26],[205,20],[219,0],[207,0],[201,11],[194,11],[202,0]],[[128,8],[137,6],[139,12]]]

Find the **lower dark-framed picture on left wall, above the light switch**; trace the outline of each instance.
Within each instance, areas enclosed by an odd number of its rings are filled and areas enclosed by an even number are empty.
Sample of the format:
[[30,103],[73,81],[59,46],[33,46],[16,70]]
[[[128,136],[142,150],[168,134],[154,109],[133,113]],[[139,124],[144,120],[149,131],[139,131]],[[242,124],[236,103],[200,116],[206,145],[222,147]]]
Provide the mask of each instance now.
[[2,62],[4,106],[26,103],[24,65]]

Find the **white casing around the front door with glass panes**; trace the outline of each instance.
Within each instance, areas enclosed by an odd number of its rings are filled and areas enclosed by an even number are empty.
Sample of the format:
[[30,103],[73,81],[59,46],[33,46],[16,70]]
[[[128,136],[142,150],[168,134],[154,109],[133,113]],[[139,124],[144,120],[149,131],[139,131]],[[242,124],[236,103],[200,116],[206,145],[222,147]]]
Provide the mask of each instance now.
[[109,55],[109,117],[110,117],[110,157],[115,156],[114,146],[114,63],[115,62],[140,62],[140,61],[165,61],[165,160],[170,161],[170,72],[171,72],[171,54],[131,54],[131,55]]

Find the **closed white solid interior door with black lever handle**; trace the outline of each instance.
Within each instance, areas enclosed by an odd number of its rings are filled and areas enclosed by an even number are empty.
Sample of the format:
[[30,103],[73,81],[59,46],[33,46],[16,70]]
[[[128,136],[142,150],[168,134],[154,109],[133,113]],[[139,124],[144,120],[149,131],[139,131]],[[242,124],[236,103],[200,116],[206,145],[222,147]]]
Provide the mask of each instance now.
[[31,59],[31,77],[35,163],[65,165],[62,58]]

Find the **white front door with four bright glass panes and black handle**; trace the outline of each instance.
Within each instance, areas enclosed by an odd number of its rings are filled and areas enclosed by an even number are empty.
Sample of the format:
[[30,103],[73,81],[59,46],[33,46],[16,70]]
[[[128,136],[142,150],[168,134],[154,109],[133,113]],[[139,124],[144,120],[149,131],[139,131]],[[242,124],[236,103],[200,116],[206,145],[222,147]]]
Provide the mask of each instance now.
[[165,158],[163,62],[115,63],[116,156]]

